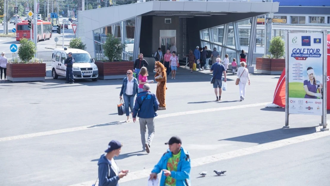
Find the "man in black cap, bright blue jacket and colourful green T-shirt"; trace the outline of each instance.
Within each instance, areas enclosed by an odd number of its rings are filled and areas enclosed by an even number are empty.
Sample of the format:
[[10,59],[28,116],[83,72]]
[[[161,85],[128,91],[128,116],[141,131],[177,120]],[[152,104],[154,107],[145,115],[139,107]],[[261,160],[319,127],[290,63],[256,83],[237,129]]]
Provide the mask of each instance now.
[[169,145],[169,149],[155,165],[149,179],[156,179],[157,174],[163,171],[160,186],[190,186],[189,153],[181,147],[181,139],[173,136],[165,144]]

